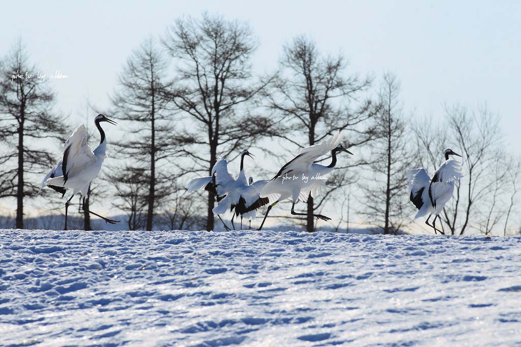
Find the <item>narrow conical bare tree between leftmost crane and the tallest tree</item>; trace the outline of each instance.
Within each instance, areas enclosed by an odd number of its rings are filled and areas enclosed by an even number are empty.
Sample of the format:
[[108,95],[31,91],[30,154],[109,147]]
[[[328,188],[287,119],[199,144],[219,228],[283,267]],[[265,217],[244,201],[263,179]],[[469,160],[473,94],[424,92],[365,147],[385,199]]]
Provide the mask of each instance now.
[[[166,78],[167,72],[168,60],[154,39],[148,38],[127,60],[112,98],[117,117],[129,121],[126,129],[129,135],[117,144],[120,153],[131,160],[134,167],[145,169],[148,177],[146,230],[152,230],[155,206],[169,194],[167,183],[172,179],[166,167],[159,170],[176,147],[171,139],[174,130],[172,111],[168,107],[171,81]],[[121,177],[127,179],[127,176]]]

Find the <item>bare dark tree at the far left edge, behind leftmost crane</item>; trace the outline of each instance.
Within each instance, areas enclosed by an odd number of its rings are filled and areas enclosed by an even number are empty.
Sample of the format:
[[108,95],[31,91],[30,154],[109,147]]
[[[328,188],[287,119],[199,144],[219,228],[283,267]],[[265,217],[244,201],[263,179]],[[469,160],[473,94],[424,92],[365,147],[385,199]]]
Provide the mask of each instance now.
[[36,179],[54,164],[43,146],[44,138],[63,137],[61,117],[53,114],[54,93],[34,75],[29,54],[18,40],[0,66],[0,197],[16,198],[16,227],[23,228],[24,199],[38,193]]

